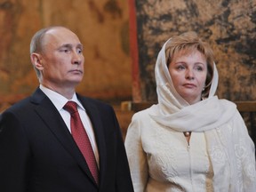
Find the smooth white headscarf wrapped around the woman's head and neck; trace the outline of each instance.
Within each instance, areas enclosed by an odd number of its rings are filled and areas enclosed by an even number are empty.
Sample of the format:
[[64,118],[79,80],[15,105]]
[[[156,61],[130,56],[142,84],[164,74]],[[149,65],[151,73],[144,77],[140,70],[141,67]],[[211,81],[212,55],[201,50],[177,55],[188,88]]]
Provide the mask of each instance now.
[[[172,84],[165,56],[165,46],[172,38],[165,42],[156,60],[156,92],[158,98],[158,116],[152,117],[166,126],[180,132],[202,132],[225,124],[236,113],[236,105],[228,102],[223,108],[217,96],[214,96],[219,75],[215,63],[213,64],[212,84],[209,96],[196,104],[190,105],[175,90]],[[193,124],[194,126],[190,126]]]

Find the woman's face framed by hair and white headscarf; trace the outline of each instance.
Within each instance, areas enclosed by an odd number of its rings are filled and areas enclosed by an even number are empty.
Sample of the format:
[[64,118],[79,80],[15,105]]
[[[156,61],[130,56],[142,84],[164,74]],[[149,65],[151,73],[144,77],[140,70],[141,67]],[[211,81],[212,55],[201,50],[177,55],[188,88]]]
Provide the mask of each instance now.
[[207,63],[201,52],[177,52],[169,64],[169,73],[175,90],[189,104],[201,100],[204,90]]

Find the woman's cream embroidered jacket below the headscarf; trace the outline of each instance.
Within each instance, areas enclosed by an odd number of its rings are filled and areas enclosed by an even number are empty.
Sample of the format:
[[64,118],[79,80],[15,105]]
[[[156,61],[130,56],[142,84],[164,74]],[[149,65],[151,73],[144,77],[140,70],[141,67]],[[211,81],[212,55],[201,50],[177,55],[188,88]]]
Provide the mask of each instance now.
[[126,135],[135,192],[256,191],[254,144],[237,110],[216,129],[193,132],[189,145],[156,113],[157,105],[135,114]]

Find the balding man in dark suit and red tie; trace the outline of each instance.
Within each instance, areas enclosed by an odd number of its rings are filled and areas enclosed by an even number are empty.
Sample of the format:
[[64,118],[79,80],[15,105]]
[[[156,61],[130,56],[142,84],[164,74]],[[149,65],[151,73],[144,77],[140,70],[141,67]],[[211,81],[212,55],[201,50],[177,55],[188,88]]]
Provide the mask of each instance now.
[[[0,191],[133,191],[113,108],[76,93],[84,75],[83,45],[76,34],[43,28],[31,40],[30,57],[40,86],[2,115]],[[75,101],[80,123],[73,116],[77,110],[66,108],[68,101]],[[81,126],[83,131],[75,133]],[[79,143],[85,140],[81,132],[88,145]]]

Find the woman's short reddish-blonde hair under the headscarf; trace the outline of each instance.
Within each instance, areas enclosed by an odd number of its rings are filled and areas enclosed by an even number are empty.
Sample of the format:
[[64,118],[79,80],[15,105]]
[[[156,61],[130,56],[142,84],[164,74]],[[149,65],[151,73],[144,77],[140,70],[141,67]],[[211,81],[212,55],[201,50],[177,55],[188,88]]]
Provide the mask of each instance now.
[[169,67],[178,52],[186,54],[196,50],[204,55],[207,62],[207,76],[202,97],[208,97],[212,84],[214,55],[210,45],[199,38],[196,32],[189,31],[180,36],[172,36],[165,46],[166,65]]

